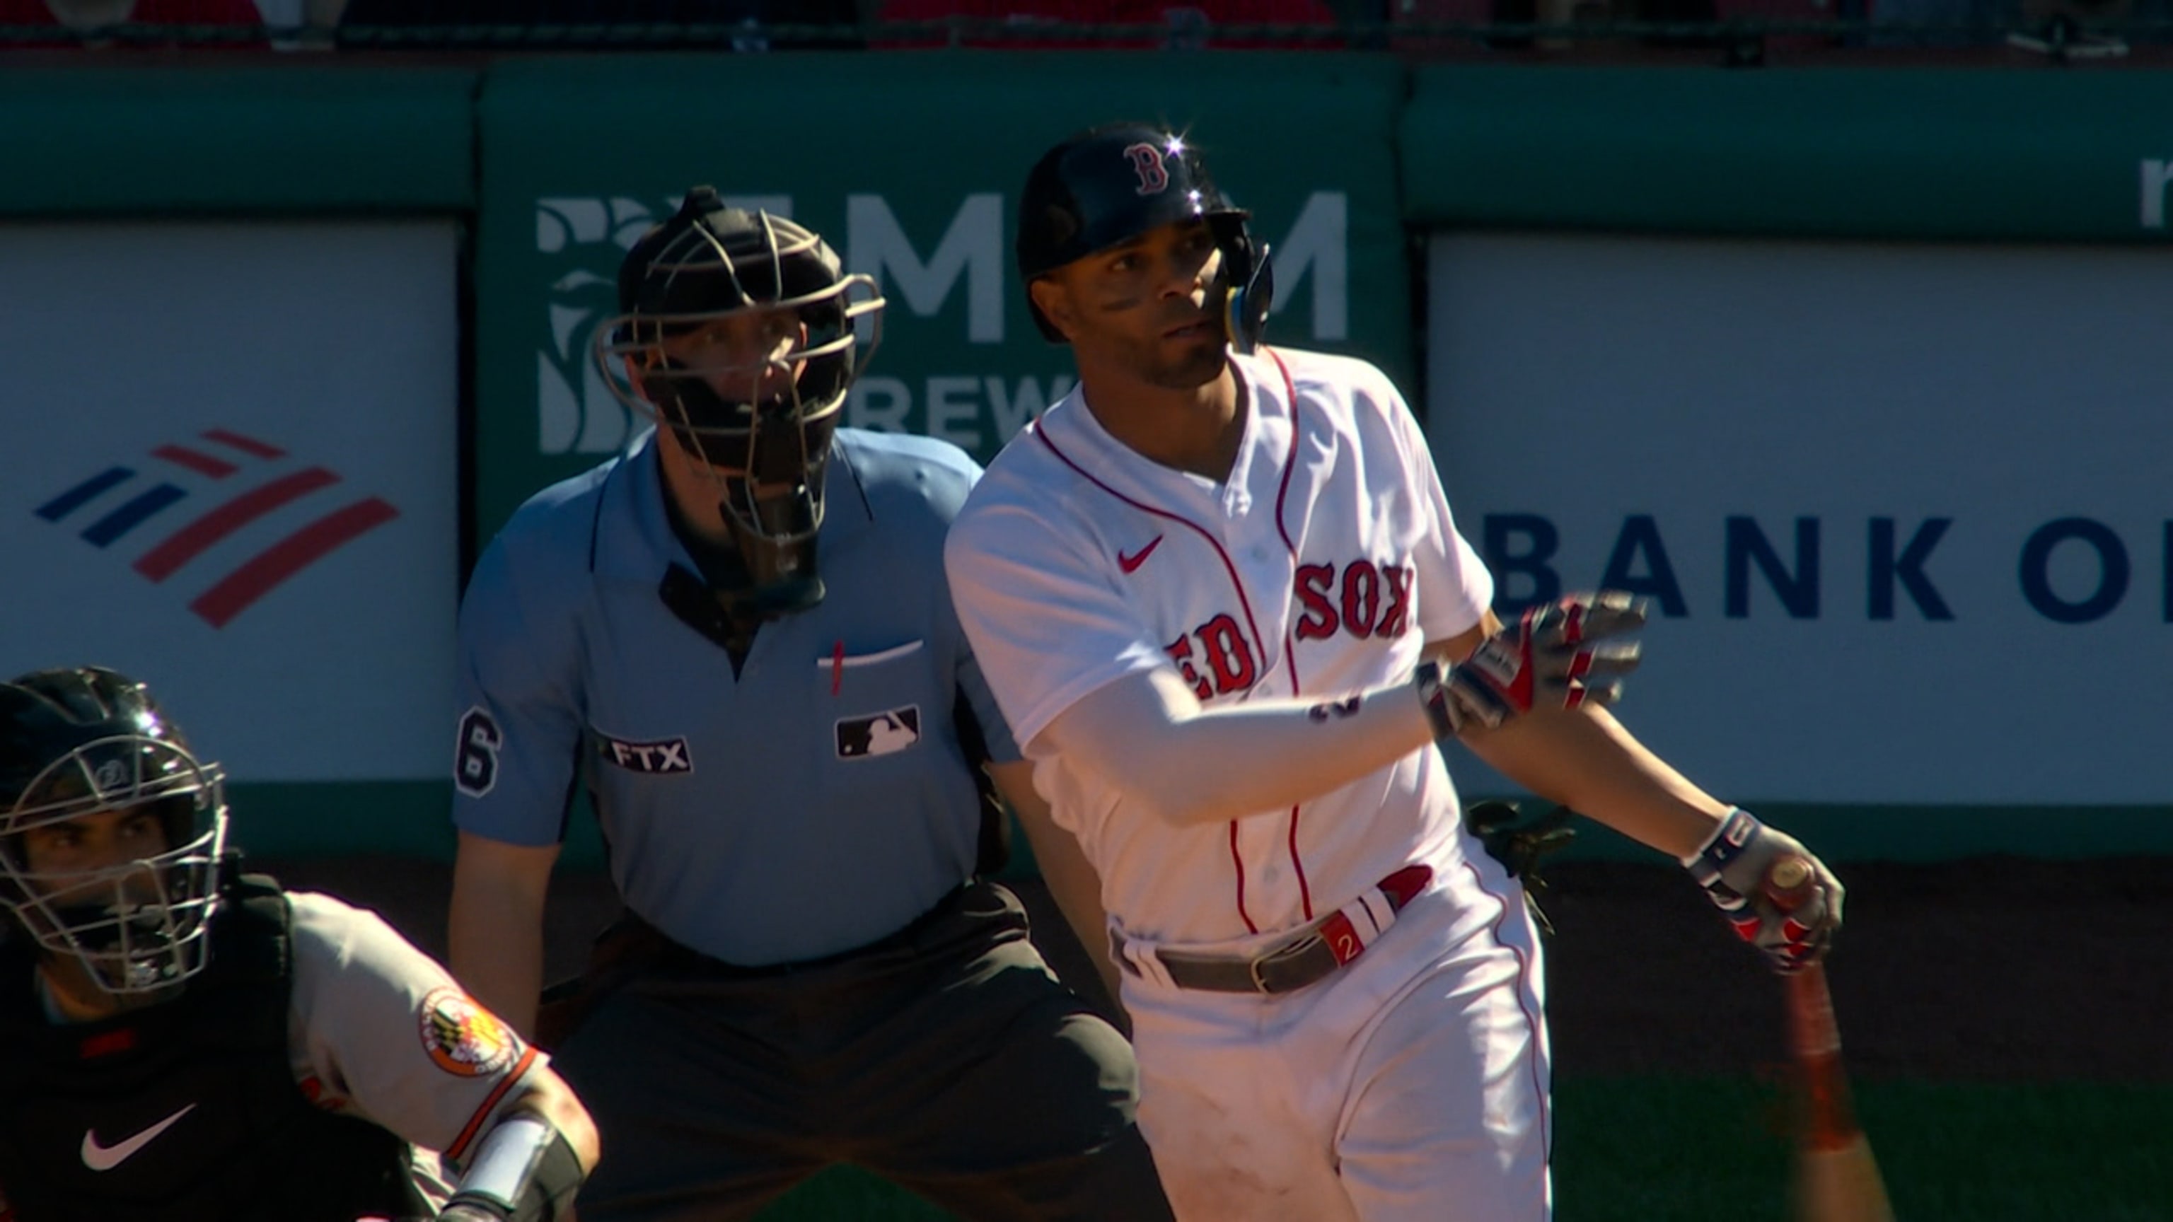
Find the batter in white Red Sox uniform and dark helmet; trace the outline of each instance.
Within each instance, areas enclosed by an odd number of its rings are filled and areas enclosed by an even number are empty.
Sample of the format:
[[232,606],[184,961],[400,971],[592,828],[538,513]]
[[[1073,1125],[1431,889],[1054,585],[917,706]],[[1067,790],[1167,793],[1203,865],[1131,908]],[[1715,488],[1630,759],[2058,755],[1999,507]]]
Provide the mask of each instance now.
[[1380,370],[1256,348],[1267,250],[1195,148],[1080,133],[1019,209],[1034,317],[1080,385],[991,463],[945,561],[1100,872],[1176,1213],[1547,1218],[1541,950],[1436,739],[1684,859],[1780,963],[1823,950],[1841,885],[1819,865],[1795,922],[1745,900],[1801,846],[1602,709],[1641,609],[1504,628]]

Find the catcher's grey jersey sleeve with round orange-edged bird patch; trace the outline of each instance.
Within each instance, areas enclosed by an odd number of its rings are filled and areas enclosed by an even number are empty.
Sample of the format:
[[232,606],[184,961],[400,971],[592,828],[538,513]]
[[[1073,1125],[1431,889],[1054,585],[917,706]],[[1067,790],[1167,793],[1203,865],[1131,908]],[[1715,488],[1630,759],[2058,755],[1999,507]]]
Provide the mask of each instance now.
[[548,1063],[372,911],[298,891],[287,1046],[317,1102],[465,1159]]

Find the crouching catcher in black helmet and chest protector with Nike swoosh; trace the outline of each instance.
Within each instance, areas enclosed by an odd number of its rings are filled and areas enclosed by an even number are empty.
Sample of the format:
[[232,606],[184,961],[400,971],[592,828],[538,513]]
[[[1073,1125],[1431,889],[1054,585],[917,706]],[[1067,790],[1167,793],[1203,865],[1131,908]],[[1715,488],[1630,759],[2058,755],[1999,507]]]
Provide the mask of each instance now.
[[571,1207],[598,1144],[548,1059],[374,913],[237,874],[141,683],[0,685],[0,1220]]

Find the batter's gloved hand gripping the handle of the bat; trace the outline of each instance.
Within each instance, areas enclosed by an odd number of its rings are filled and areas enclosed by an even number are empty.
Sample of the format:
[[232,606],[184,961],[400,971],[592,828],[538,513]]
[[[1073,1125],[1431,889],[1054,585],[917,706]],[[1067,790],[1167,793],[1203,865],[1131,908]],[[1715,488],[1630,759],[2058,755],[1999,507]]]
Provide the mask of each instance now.
[[[1767,876],[1784,857],[1801,857],[1812,872],[1797,896],[1773,896]],[[1797,972],[1825,957],[1841,931],[1841,900],[1847,889],[1799,839],[1773,831],[1734,809],[1712,839],[1684,859],[1684,868],[1706,889],[1712,907],[1743,942],[1767,957],[1775,972]]]

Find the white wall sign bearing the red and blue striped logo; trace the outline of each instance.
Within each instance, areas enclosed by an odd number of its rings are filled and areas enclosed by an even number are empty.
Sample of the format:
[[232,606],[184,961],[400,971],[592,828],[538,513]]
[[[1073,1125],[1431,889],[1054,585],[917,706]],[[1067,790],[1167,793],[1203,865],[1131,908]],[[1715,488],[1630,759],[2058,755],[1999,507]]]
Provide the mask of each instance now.
[[0,678],[102,663],[237,781],[448,770],[450,222],[0,226]]

